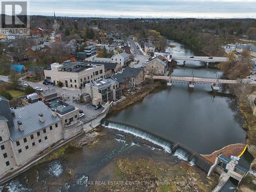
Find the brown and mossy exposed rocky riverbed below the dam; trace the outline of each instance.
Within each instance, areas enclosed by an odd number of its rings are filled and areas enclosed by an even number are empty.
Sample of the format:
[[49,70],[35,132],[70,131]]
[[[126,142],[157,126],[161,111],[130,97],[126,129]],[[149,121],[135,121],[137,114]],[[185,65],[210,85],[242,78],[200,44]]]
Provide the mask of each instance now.
[[176,165],[154,162],[151,158],[115,161],[115,178],[91,191],[211,191],[215,181],[197,167],[184,162]]

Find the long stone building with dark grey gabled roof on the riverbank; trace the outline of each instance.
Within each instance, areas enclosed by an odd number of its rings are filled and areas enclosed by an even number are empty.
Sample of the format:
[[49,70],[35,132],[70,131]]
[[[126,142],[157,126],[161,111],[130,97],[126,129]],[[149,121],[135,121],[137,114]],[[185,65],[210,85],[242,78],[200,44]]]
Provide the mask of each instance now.
[[113,80],[125,87],[134,87],[144,81],[144,72],[140,68],[124,68],[122,73],[111,76]]

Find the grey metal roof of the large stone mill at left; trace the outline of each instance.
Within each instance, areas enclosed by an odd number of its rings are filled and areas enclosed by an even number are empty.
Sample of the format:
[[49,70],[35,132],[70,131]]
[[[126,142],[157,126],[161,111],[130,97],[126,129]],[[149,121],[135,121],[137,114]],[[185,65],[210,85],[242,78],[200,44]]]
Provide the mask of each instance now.
[[[44,115],[44,122],[39,120],[38,114],[40,113]],[[51,109],[42,101],[15,109],[14,114],[14,126],[9,127],[12,141],[28,136],[61,120],[59,116],[52,116]],[[22,122],[24,131],[19,131],[17,121]]]

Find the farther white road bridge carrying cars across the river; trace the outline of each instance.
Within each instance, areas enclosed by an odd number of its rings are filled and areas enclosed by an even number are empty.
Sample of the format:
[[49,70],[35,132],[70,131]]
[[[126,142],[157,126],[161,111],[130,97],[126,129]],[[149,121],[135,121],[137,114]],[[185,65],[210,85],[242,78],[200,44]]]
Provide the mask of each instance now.
[[[210,59],[211,58],[211,59]],[[173,56],[173,60],[195,60],[203,62],[226,62],[228,57],[204,57],[204,56]]]

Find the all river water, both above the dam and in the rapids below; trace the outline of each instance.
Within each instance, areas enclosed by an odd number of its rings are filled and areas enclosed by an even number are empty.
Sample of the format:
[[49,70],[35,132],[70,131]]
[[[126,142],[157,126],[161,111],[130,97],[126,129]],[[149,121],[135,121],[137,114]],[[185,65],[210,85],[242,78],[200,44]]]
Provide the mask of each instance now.
[[[173,55],[203,55],[178,42],[172,45],[177,46]],[[208,77],[221,74],[196,61],[175,67],[173,74],[192,73]],[[210,84],[196,84],[193,91],[189,91],[185,83],[173,82],[172,88],[163,84],[143,100],[108,118],[175,139],[201,154],[212,153],[228,144],[244,143],[246,137],[237,101],[229,94],[213,94]],[[102,134],[108,137],[99,138],[95,147],[68,148],[65,156],[30,168],[0,186],[0,191],[88,191],[90,185],[87,186],[86,181],[114,179],[114,162],[120,158],[152,158],[169,165],[179,163],[180,157],[172,156],[148,140],[112,129],[104,129]],[[67,175],[69,170],[71,177]]]

